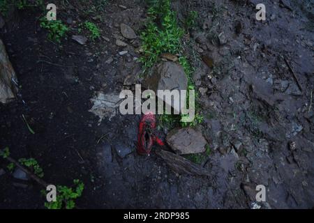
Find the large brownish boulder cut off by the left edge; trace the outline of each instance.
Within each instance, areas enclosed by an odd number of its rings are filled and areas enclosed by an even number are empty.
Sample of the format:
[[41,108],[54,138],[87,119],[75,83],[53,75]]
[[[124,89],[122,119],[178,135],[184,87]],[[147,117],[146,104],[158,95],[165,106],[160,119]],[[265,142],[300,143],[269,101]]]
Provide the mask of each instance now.
[[7,103],[15,98],[17,77],[6,54],[6,48],[0,40],[0,102]]

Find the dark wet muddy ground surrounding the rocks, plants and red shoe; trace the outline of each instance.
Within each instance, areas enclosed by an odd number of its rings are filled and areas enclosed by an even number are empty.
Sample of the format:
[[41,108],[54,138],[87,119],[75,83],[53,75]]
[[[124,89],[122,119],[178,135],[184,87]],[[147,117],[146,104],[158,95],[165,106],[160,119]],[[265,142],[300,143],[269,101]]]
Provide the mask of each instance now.
[[[140,39],[115,44],[122,22],[137,35],[144,28],[147,8],[137,0],[108,1],[98,17],[86,13],[88,1],[60,2],[59,18],[73,20],[61,45],[40,29],[40,10],[13,13],[0,37],[20,96],[0,105],[1,148],[36,158],[47,182],[71,185],[80,178],[79,208],[252,208],[256,185],[267,188],[261,208],[313,208],[314,3],[264,0],[264,22],[255,20],[257,3],[172,1],[179,21],[190,10],[199,15],[184,49],[196,68],[204,116],[198,128],[212,150],[202,165],[211,177],[176,174],[154,151],[137,155],[140,116],[117,114],[98,125],[89,112],[97,91],[119,93],[128,75],[141,72]],[[70,38],[75,22],[84,20],[98,24],[100,40],[79,45]],[[120,56],[123,50],[128,54]],[[0,169],[6,164],[1,160]],[[0,176],[0,208],[44,208],[36,183],[16,183],[7,170]]]

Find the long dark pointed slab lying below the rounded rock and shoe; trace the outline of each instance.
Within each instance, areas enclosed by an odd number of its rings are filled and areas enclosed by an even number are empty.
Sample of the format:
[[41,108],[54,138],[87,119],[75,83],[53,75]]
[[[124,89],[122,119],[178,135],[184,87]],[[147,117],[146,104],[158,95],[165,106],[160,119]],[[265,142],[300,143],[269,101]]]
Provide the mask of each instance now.
[[156,154],[165,160],[168,166],[177,174],[210,176],[207,169],[186,160],[186,158],[181,157],[180,155],[162,150],[157,150]]

